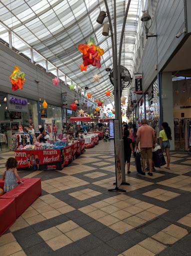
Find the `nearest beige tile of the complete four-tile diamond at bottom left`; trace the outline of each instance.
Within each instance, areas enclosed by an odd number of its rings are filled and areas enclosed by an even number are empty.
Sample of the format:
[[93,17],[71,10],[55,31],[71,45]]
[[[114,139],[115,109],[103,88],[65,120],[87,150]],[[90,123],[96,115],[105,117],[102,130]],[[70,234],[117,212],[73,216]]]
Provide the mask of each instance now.
[[46,243],[52,248],[52,250],[57,250],[66,246],[69,243],[72,243],[72,240],[69,239],[66,235],[61,234],[50,240],[47,240]]

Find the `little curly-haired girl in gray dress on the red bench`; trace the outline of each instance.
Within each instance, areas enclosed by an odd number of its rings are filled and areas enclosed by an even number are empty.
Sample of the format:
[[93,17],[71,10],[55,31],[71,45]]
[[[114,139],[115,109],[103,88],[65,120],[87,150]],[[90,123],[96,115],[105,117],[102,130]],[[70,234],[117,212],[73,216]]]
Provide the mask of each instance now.
[[15,158],[10,157],[6,161],[6,171],[2,175],[2,179],[4,180],[4,193],[10,191],[11,189],[15,188],[18,183],[23,183],[18,176],[16,171],[17,161]]

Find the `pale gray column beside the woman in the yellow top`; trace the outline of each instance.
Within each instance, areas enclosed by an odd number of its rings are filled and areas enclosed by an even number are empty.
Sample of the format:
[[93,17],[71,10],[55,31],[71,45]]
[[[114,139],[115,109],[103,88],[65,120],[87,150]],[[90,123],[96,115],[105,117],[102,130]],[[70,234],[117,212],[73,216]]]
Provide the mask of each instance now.
[[170,141],[170,149],[174,150],[173,88],[171,72],[162,72],[161,98],[163,122],[167,122],[171,128],[172,140]]

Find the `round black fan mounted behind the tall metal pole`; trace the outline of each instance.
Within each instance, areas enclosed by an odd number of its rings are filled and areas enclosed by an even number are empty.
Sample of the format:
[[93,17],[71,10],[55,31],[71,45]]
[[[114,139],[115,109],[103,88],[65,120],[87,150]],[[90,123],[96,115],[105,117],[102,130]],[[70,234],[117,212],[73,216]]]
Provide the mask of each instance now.
[[[110,73],[109,73],[109,79],[110,82],[113,85],[113,70],[111,69]],[[121,85],[121,89],[123,90],[124,88],[127,88],[130,83],[131,83],[131,76],[130,76],[130,72],[128,71],[127,68],[125,68],[124,66],[120,66],[120,85]]]

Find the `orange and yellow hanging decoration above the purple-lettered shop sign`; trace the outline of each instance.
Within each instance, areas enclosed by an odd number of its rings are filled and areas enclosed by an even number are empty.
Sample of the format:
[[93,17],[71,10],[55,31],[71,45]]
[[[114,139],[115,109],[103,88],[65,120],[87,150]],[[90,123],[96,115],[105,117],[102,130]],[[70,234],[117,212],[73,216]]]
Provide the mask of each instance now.
[[23,89],[23,84],[25,81],[24,72],[21,72],[18,66],[14,66],[14,70],[9,77],[12,84],[12,91]]

